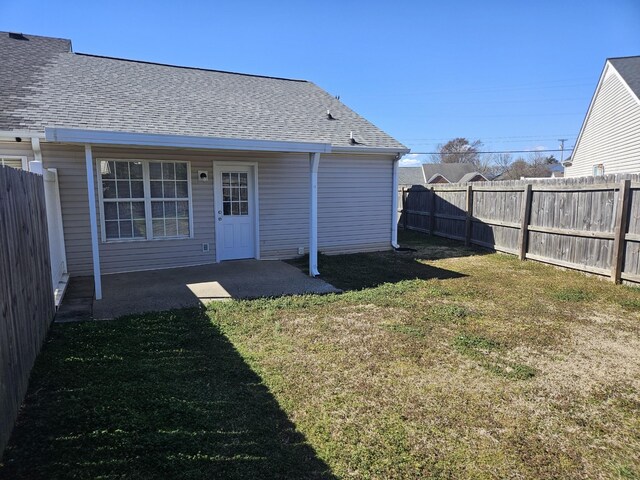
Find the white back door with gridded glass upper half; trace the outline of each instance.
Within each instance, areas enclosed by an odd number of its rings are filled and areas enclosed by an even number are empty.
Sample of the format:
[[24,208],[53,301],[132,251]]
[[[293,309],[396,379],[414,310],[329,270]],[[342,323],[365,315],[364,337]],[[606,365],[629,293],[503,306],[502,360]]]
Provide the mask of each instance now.
[[251,165],[214,166],[218,261],[256,257],[255,179]]

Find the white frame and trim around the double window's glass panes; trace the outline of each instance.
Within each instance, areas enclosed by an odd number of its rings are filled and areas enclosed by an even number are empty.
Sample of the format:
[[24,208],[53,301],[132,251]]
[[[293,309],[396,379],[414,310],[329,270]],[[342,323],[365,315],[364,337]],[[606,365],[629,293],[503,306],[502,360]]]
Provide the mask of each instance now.
[[[147,229],[147,238],[107,238],[107,232],[105,230],[104,219],[104,198],[102,196],[102,173],[100,171],[100,162],[140,162],[142,163],[142,184],[144,188],[144,216]],[[151,180],[149,176],[149,163],[186,163],[187,164],[187,193],[189,201],[189,236],[175,236],[175,237],[153,237],[153,223],[151,218],[151,202],[154,200],[151,198]],[[130,242],[162,242],[162,241],[176,241],[176,240],[189,240],[194,238],[193,232],[193,193],[191,189],[191,162],[187,160],[155,160],[155,159],[141,159],[141,158],[98,158],[96,159],[96,177],[98,186],[98,205],[100,212],[100,238],[102,243],[130,243]],[[123,201],[126,199],[122,199]]]

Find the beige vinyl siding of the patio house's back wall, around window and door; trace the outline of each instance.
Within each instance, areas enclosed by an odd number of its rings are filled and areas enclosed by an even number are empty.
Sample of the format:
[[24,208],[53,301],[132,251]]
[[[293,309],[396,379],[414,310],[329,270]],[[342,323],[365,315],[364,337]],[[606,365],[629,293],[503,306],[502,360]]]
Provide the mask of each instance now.
[[[95,147],[97,159],[188,161],[193,238],[100,242],[105,274],[215,262],[214,161],[258,164],[260,257],[292,258],[309,246],[309,156],[260,152],[214,154],[186,150]],[[58,168],[67,261],[72,275],[90,275],[91,235],[84,148],[43,145],[48,168]],[[322,155],[318,180],[318,246],[323,253],[390,248],[392,157]],[[200,181],[198,172],[209,173]],[[99,201],[96,190],[96,203]],[[100,216],[99,212],[98,215]],[[100,228],[101,219],[98,221]],[[101,231],[99,232],[101,235]],[[202,251],[202,243],[209,251]]]

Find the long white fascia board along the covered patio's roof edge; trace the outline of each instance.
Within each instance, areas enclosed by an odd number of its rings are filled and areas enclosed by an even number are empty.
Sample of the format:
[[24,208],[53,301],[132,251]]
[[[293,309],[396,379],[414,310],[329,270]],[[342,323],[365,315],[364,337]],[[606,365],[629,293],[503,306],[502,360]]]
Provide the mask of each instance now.
[[114,132],[77,128],[45,128],[48,142],[85,145],[137,145],[143,147],[199,148],[207,150],[252,150],[261,152],[330,153],[331,145],[317,142],[283,142],[244,138],[194,137],[153,133]]

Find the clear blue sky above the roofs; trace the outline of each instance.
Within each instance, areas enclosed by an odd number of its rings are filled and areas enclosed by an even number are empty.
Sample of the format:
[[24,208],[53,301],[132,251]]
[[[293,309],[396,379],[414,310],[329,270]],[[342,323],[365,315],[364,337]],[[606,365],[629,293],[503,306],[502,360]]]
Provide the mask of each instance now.
[[605,59],[640,55],[640,0],[0,0],[0,30],[311,80],[416,152],[529,150],[574,145]]

